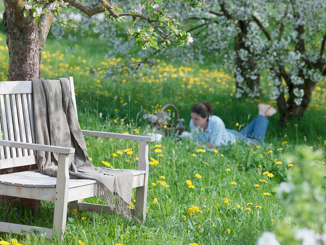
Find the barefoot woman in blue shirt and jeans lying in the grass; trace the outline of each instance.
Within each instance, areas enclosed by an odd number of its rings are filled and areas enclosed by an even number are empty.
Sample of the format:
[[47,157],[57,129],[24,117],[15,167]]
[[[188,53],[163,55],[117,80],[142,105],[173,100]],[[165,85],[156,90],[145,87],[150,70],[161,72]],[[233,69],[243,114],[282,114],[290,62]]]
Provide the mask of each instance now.
[[271,105],[259,104],[258,115],[240,132],[226,129],[221,118],[213,114],[213,106],[207,102],[195,104],[191,109],[191,120],[189,123],[192,132],[192,140],[205,143],[208,148],[220,147],[231,144],[235,140],[246,140],[248,144],[262,144],[269,124],[268,117],[276,113]]

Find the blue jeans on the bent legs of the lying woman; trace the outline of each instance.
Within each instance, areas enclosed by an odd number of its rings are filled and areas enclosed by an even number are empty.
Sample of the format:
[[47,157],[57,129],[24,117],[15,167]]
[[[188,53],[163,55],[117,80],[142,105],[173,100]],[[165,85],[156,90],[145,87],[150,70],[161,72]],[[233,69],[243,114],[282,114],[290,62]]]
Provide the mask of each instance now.
[[264,138],[266,135],[267,127],[269,121],[263,115],[257,115],[257,117],[252,120],[246,127],[244,127],[240,132],[236,130],[232,131],[239,140],[246,139],[247,141],[259,141],[259,143],[264,143]]

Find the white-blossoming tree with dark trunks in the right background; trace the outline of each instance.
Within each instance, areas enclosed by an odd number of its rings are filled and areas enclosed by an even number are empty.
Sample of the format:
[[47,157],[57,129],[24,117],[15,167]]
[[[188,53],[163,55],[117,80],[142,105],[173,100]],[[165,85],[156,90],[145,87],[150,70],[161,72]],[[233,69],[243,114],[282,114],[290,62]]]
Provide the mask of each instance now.
[[[201,49],[232,69],[236,97],[259,96],[266,82],[285,122],[303,115],[326,75],[325,12],[323,0],[210,0],[189,15],[182,12],[180,22],[191,20]],[[193,46],[200,49],[200,43]]]

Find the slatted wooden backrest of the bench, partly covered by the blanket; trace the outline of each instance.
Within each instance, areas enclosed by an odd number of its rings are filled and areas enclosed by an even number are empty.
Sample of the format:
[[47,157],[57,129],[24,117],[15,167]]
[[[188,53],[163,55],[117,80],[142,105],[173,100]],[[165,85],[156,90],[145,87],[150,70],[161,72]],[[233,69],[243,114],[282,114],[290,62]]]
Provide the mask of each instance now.
[[[77,112],[73,79],[67,78]],[[35,143],[32,94],[31,81],[0,81],[0,139]],[[33,150],[0,146],[0,169],[35,164],[35,155]],[[21,157],[25,161],[15,161]]]

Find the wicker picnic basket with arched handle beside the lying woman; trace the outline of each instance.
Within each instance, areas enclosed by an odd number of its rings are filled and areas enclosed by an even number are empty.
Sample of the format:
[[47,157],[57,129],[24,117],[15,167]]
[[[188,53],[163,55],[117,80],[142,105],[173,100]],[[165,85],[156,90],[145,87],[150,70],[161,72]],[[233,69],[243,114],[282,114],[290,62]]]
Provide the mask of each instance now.
[[[175,116],[177,118],[173,125],[170,124],[170,123],[163,124],[162,120],[161,120],[161,116],[162,116],[164,110],[166,108],[168,108],[168,107],[172,107],[174,109]],[[164,134],[165,137],[167,137],[168,135],[172,135],[172,134],[179,134],[180,135],[184,130],[184,126],[182,126],[183,121],[184,121],[184,119],[180,120],[179,112],[178,112],[178,109],[175,107],[175,105],[166,104],[159,111],[159,113],[157,115],[157,120],[153,124],[153,127],[156,127],[156,129],[159,130],[161,132],[161,134]]]

